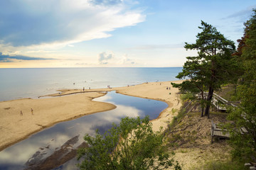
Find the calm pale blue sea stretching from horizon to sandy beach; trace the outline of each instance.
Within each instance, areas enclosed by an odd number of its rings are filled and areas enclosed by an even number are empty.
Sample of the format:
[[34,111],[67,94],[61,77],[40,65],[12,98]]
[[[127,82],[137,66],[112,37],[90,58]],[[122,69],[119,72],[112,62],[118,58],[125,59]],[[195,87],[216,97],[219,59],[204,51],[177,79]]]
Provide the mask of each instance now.
[[0,69],[0,101],[37,98],[59,89],[97,89],[176,80],[182,67]]

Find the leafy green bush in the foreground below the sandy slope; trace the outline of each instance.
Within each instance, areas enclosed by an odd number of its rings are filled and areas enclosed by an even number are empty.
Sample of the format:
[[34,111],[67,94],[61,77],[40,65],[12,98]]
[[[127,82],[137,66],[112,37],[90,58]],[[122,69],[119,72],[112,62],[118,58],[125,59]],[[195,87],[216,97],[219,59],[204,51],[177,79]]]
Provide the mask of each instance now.
[[122,118],[119,126],[95,137],[85,136],[88,148],[78,150],[80,169],[181,169],[166,153],[164,136],[152,130],[149,118]]

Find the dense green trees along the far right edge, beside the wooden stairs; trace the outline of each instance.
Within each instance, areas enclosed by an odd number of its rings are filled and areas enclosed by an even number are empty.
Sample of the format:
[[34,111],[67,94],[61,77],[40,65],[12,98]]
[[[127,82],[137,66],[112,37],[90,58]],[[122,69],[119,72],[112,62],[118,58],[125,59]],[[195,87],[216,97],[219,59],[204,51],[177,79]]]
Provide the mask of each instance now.
[[[228,116],[234,121],[234,124],[230,124],[230,144],[233,157],[250,159],[256,157],[256,10],[245,23],[244,37],[238,42],[241,44],[237,57],[243,69],[237,90],[241,103]],[[246,128],[248,132],[241,134],[240,128]]]

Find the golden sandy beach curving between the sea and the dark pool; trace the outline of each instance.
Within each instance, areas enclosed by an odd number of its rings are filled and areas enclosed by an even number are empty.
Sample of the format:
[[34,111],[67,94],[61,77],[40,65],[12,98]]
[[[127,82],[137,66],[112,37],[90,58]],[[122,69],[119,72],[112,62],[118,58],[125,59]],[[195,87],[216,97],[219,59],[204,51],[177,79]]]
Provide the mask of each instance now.
[[[166,87],[171,89],[167,90]],[[181,106],[178,89],[171,86],[171,81],[149,82],[112,89],[63,90],[61,94],[49,95],[55,96],[51,98],[1,101],[0,151],[56,123],[114,109],[116,106],[110,103],[92,101],[93,98],[104,96],[104,91],[117,91],[124,95],[168,103],[169,107],[162,111],[158,118],[152,120],[154,130],[159,130],[161,126],[166,128]]]

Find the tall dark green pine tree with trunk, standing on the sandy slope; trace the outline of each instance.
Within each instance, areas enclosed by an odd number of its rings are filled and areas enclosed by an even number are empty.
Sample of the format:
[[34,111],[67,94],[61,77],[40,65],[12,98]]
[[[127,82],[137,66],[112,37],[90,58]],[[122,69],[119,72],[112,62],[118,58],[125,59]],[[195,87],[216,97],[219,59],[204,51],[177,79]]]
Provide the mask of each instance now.
[[[187,57],[187,62],[183,65],[183,72],[179,73],[178,79],[182,84],[173,84],[181,91],[190,91],[193,94],[201,94],[199,98],[202,108],[206,107],[204,115],[208,115],[210,103],[213,98],[213,91],[220,89],[222,84],[233,81],[234,70],[237,62],[233,60],[232,54],[235,52],[235,43],[220,34],[217,29],[208,23],[201,21],[201,33],[196,35],[196,43],[188,44],[186,50],[198,50],[198,56]],[[203,92],[208,89],[208,96],[205,99]]]

